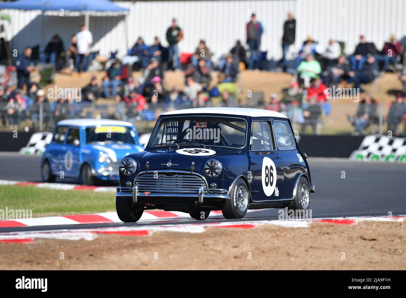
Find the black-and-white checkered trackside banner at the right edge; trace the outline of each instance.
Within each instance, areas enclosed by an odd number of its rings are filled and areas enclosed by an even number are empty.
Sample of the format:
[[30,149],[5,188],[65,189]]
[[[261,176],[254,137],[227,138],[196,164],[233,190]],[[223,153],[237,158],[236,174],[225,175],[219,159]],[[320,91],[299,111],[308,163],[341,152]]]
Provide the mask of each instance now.
[[406,138],[367,135],[350,160],[406,163]]

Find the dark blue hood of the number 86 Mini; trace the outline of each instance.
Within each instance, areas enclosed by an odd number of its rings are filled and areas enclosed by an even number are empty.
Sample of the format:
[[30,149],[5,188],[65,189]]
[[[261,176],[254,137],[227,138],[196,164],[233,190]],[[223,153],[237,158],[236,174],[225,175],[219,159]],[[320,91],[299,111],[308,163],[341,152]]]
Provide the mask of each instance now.
[[[201,149],[205,150],[203,147],[181,147],[180,150],[194,150],[194,149]],[[192,162],[194,162],[194,169],[195,171],[201,172],[202,166],[204,166],[205,162],[209,159],[219,159],[221,162],[222,156],[230,156],[230,155],[239,155],[241,151],[233,150],[233,149],[223,149],[223,148],[216,148],[211,147],[209,150],[210,155],[201,155],[201,154],[193,154],[193,155],[185,155],[179,154],[176,152],[178,149],[177,147],[174,148],[166,148],[166,149],[157,149],[157,150],[150,150],[149,152],[145,153],[140,159],[140,166],[141,168],[145,167],[147,161],[149,161],[149,169],[173,169],[173,170],[190,170],[190,166]],[[207,150],[206,150],[207,151]],[[168,167],[166,163],[171,162],[171,167]]]

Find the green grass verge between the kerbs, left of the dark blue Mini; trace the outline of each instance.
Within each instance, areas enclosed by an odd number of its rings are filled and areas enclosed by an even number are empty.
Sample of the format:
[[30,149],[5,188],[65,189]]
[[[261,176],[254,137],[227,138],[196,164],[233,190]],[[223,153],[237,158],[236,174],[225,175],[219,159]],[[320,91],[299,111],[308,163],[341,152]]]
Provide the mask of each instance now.
[[0,186],[0,209],[32,209],[32,217],[115,211],[114,193]]

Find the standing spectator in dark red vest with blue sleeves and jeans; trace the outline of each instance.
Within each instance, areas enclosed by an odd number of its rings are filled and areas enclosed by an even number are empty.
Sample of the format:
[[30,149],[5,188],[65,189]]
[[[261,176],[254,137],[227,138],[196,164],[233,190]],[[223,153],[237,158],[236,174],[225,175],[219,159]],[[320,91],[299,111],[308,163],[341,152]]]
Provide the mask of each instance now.
[[247,23],[247,44],[250,48],[250,60],[248,63],[249,69],[259,68],[261,47],[261,36],[263,27],[261,22],[257,21],[255,13],[251,14],[251,21]]

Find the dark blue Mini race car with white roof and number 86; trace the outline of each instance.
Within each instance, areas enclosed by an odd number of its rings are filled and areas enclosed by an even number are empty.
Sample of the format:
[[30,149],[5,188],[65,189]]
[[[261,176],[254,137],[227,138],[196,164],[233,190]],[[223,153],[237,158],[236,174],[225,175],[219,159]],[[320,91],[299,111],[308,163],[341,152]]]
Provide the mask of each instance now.
[[121,221],[144,210],[227,219],[248,209],[307,210],[311,183],[289,119],[261,109],[199,108],[161,115],[143,152],[124,157],[116,193]]

